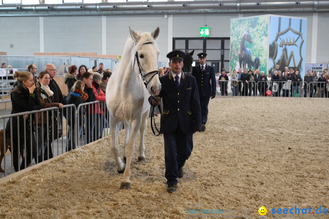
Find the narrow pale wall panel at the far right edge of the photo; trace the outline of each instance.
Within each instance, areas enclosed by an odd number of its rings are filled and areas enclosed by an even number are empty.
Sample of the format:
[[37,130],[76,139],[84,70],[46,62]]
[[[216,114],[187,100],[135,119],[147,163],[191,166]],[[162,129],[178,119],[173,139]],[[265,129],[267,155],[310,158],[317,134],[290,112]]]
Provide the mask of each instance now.
[[317,63],[329,63],[329,13],[318,14]]

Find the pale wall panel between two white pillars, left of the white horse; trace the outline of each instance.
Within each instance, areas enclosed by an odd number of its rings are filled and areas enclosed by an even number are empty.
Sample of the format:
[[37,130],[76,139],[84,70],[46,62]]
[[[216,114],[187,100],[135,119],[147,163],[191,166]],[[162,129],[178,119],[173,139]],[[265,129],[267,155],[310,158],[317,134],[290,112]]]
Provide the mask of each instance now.
[[102,16],[44,17],[44,52],[102,54]]

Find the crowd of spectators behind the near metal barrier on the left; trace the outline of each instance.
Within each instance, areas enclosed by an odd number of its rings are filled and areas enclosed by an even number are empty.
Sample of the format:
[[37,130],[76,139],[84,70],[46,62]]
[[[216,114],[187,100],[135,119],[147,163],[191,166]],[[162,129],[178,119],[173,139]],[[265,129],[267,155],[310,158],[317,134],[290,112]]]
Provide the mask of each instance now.
[[[2,67],[6,67],[6,63],[3,63]],[[82,107],[80,115],[74,115],[74,110],[71,107],[62,110],[65,104],[74,104],[78,108],[78,105],[84,102],[105,101],[106,85],[112,73],[111,69],[104,69],[103,63],[99,64],[98,69],[97,66],[94,66],[92,71],[85,65],[81,65],[79,68],[75,65],[69,66],[63,75],[68,90],[67,95],[62,94],[62,90],[55,80],[57,69],[54,64],[47,64],[44,71],[38,74],[38,77],[35,77],[38,73],[36,65],[30,64],[27,69],[28,71],[16,71],[13,74],[16,82],[10,92],[11,114],[50,107],[58,108],[13,117],[12,120],[8,120],[6,138],[13,139],[12,153],[15,171],[25,167],[25,160],[26,166],[28,166],[31,157],[35,163],[53,157],[52,141],[62,137],[63,117],[66,118],[69,127],[66,151],[76,147],[75,135],[73,134],[76,133],[76,128],[78,128],[79,133],[78,140],[84,130],[86,143],[101,138],[103,128],[107,128],[106,106],[103,103],[93,103]],[[79,127],[75,127],[75,117],[79,120]],[[26,157],[20,162],[18,154],[24,146]]]

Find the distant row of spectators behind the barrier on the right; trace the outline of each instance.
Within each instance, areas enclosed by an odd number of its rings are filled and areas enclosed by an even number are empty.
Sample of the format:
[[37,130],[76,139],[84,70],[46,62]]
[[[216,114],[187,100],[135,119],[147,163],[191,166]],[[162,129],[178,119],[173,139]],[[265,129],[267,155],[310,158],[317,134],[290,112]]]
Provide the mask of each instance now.
[[[230,75],[230,80],[223,70],[218,77],[218,86],[221,95],[227,96],[227,84],[231,82],[231,91],[233,96],[273,96],[273,97],[299,97],[304,91],[304,97],[329,97],[329,75],[327,69],[322,74],[314,70],[307,71],[304,79],[299,74],[299,70],[285,67],[284,72],[279,70],[276,65],[272,71],[271,77],[267,78],[264,71],[259,69],[243,70],[240,68],[237,72],[235,69]],[[318,83],[321,82],[321,83]]]

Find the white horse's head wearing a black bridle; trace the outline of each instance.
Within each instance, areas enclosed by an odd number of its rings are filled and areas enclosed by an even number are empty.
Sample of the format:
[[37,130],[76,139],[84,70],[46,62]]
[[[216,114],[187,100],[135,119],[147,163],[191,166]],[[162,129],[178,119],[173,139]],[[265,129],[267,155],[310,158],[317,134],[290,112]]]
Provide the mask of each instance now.
[[152,33],[135,32],[129,27],[130,36],[135,42],[132,51],[132,63],[135,72],[142,75],[144,84],[150,95],[158,95],[161,83],[158,77],[159,49],[155,40],[160,29],[157,27]]

